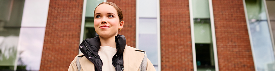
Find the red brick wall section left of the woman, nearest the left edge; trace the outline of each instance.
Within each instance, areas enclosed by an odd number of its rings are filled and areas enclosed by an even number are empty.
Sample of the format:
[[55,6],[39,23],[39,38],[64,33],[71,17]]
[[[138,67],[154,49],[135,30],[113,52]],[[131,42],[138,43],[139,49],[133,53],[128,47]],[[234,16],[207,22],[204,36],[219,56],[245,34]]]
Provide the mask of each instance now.
[[40,71],[67,71],[78,54],[83,0],[51,0]]

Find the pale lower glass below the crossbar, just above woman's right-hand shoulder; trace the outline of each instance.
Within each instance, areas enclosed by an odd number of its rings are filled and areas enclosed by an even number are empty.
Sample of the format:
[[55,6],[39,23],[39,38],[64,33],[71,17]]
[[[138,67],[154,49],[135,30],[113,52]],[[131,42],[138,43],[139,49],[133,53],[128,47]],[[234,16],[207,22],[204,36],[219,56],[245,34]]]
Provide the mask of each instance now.
[[139,49],[146,51],[147,58],[157,70],[157,18],[139,19]]

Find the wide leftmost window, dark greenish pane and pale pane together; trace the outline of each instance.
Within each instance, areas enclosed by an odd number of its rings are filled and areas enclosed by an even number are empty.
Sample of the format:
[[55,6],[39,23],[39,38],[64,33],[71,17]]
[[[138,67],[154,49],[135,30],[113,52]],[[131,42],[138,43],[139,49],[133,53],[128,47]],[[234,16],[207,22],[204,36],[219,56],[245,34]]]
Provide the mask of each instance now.
[[0,70],[38,71],[49,0],[0,1]]

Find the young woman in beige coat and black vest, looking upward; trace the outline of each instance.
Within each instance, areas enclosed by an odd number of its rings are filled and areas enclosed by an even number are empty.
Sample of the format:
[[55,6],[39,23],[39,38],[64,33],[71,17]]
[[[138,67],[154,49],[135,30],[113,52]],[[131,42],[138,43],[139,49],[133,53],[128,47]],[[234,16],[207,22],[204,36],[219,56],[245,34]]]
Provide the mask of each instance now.
[[68,71],[155,71],[144,51],[126,45],[118,34],[124,21],[121,9],[112,2],[102,2],[94,10],[94,29],[99,36],[85,39],[82,52]]

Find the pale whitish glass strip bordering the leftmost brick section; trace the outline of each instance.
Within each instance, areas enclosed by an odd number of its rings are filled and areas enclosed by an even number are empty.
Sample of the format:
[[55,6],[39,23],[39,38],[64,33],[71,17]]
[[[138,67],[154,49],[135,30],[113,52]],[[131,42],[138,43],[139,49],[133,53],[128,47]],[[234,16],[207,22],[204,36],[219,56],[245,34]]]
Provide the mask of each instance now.
[[40,70],[49,2],[26,0],[24,3],[16,70]]

